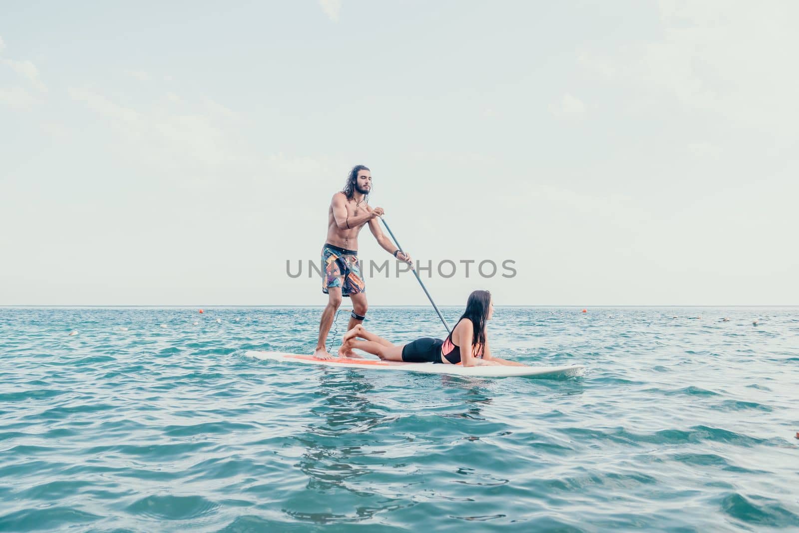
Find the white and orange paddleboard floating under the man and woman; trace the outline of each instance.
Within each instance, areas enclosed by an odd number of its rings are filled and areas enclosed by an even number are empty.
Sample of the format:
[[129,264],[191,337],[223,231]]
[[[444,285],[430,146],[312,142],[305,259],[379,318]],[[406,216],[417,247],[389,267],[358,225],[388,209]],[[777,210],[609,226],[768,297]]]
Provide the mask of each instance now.
[[582,364],[570,364],[563,367],[508,367],[499,365],[464,367],[461,364],[404,363],[402,361],[350,359],[348,357],[322,360],[316,359],[314,356],[285,352],[249,351],[244,353],[244,355],[260,360],[282,361],[284,363],[321,364],[328,367],[371,368],[373,370],[404,370],[406,372],[476,377],[581,376],[586,369]]

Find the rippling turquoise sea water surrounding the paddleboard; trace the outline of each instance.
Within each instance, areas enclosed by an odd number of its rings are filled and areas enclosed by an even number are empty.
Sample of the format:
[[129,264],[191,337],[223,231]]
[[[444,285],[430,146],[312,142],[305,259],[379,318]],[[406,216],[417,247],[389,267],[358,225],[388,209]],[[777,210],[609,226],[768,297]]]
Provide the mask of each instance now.
[[560,380],[244,357],[319,316],[0,308],[0,531],[799,529],[797,308],[497,308],[499,356],[587,365]]

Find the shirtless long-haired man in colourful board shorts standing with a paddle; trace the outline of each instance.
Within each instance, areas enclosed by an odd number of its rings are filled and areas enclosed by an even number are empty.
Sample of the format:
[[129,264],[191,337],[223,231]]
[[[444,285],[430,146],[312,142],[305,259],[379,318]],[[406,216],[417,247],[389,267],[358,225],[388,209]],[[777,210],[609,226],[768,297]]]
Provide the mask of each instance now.
[[[319,324],[319,340],[313,356],[332,359],[325,342],[333,324],[333,317],[341,305],[341,298],[352,300],[352,315],[347,329],[361,324],[368,308],[366,284],[360,274],[358,261],[358,233],[369,225],[369,230],[383,249],[400,261],[411,263],[411,256],[400,252],[392,241],[380,231],[377,219],[383,215],[380,207],[368,205],[368,194],[372,190],[372,173],[364,165],[356,165],[350,171],[344,190],[333,195],[328,209],[328,238],[322,247],[322,292],[328,295],[328,305],[322,312]],[[347,356],[354,355],[349,350]]]

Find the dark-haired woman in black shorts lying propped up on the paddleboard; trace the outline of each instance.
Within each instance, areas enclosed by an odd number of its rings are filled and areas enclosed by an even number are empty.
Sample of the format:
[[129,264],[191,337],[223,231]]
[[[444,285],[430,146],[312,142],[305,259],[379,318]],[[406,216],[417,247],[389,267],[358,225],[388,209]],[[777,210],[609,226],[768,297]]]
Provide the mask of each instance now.
[[363,324],[358,324],[344,334],[339,354],[345,357],[352,353],[352,348],[356,348],[383,360],[406,363],[463,363],[464,367],[480,364],[525,366],[491,356],[486,336],[486,322],[491,320],[493,314],[494,302],[491,300],[491,292],[475,291],[469,295],[466,311],[458,319],[458,323],[452,328],[446,340],[423,337],[408,344],[392,344],[366,331]]

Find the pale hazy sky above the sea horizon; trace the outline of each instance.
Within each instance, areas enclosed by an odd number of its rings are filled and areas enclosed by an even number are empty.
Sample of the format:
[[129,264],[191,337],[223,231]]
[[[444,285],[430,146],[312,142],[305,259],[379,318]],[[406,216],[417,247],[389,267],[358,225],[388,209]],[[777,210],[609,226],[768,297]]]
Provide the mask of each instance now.
[[[0,305],[324,304],[286,260],[318,260],[356,164],[415,259],[515,261],[425,277],[442,305],[799,304],[797,19],[2,2]],[[367,292],[427,304],[410,273]]]

